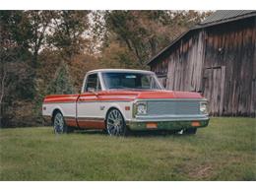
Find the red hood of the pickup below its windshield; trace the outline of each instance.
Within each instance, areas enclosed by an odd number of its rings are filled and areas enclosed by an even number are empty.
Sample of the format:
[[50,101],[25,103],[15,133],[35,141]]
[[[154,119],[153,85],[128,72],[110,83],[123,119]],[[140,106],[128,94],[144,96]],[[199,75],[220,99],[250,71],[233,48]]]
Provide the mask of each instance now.
[[[106,94],[106,93],[105,93]],[[150,99],[150,98],[203,98],[198,93],[174,92],[165,90],[154,91],[107,91],[108,96],[122,96],[130,99]]]

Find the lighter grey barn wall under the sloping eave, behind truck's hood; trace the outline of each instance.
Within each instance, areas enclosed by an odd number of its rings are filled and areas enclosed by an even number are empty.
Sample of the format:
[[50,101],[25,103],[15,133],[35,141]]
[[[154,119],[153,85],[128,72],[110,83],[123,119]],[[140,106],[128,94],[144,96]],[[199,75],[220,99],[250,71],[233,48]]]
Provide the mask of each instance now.
[[204,32],[193,32],[190,38],[183,38],[174,45],[173,51],[152,66],[160,75],[160,81],[166,81],[166,89],[178,91],[201,90],[201,76],[204,47]]

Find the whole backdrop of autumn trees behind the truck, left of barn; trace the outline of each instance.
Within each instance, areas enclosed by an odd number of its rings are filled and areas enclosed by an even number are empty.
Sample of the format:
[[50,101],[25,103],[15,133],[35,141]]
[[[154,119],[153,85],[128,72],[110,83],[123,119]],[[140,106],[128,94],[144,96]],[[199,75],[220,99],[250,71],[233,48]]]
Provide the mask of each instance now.
[[89,70],[148,69],[210,13],[0,11],[0,127],[40,125],[43,96],[78,93]]

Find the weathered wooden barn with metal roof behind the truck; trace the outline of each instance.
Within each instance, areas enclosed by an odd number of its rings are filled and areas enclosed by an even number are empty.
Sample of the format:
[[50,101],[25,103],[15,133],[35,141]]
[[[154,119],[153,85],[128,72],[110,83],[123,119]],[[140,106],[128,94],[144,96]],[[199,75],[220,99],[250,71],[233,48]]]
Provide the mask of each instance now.
[[212,115],[256,110],[256,11],[217,11],[147,64],[167,90],[202,93]]

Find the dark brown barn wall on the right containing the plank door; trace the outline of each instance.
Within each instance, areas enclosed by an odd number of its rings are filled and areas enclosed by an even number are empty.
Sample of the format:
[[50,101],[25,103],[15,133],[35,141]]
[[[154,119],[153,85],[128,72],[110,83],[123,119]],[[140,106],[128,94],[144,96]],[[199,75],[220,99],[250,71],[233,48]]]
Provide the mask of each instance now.
[[255,116],[255,18],[206,29],[203,93],[214,114]]

